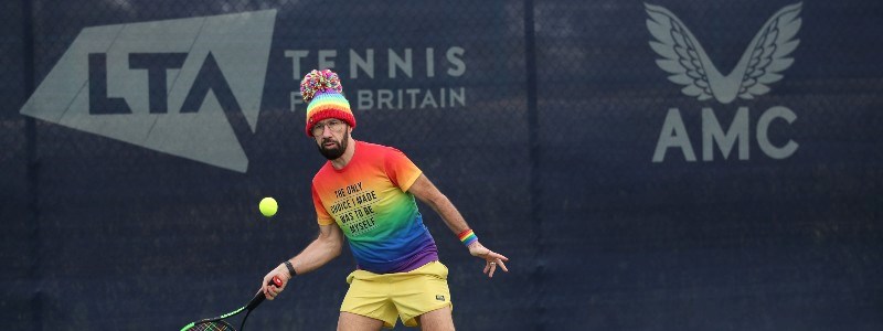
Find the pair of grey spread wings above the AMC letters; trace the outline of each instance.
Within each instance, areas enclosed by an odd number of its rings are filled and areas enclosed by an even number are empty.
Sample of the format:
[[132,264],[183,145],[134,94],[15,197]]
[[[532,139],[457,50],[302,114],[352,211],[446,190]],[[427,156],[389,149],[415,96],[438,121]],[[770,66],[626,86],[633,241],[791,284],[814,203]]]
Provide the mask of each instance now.
[[781,79],[781,72],[794,63],[788,57],[799,40],[802,2],[786,6],[760,28],[735,68],[723,75],[705,50],[678,17],[659,6],[645,3],[647,29],[656,41],[650,47],[661,56],[656,61],[669,81],[683,85],[681,92],[699,100],[714,97],[722,104],[738,98],[753,99],[769,92],[769,84]]

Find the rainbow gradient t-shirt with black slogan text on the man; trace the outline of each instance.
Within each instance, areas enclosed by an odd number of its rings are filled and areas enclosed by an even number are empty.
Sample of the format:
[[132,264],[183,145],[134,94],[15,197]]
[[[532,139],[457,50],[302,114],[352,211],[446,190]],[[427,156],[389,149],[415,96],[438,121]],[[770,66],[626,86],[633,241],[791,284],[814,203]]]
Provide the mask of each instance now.
[[321,225],[337,223],[360,269],[403,273],[438,259],[438,249],[407,190],[423,173],[403,152],[352,140],[355,153],[337,170],[327,162],[312,179]]

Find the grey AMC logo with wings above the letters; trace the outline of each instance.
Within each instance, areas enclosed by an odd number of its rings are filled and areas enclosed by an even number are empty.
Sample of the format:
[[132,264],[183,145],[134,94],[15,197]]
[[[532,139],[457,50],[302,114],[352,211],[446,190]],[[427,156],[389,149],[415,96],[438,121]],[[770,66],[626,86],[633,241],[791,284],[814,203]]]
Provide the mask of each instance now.
[[[653,36],[650,47],[661,56],[657,65],[669,73],[669,81],[682,85],[681,93],[698,100],[715,99],[730,105],[738,99],[754,99],[769,92],[769,85],[783,78],[781,72],[794,63],[788,57],[797,49],[799,41],[795,39],[800,30],[800,9],[798,2],[776,12],[760,28],[748,49],[740,58],[733,71],[724,75],[711,62],[702,45],[690,30],[671,11],[645,3],[648,19],[647,29]],[[797,115],[785,106],[770,107],[757,120],[756,139],[760,150],[773,159],[786,159],[797,151],[794,140],[776,146],[769,141],[769,129],[773,121],[781,119],[788,125],[797,119]],[[748,160],[748,142],[751,139],[748,108],[738,107],[730,128],[724,130],[717,120],[717,114],[711,107],[702,108],[702,161],[714,160],[716,146],[724,159],[727,159],[733,147],[738,146],[738,159]],[[662,162],[669,149],[680,149],[687,161],[696,161],[690,142],[681,111],[671,108],[659,132],[659,140],[653,151],[653,162]]]

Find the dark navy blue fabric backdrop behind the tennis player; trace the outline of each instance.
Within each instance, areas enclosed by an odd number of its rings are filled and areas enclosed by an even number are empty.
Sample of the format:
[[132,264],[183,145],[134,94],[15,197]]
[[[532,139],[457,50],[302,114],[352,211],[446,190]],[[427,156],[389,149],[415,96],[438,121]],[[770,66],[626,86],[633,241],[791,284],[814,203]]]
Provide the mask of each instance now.
[[[795,2],[650,4],[675,15],[726,75]],[[768,92],[723,103],[667,78],[641,1],[8,1],[0,319],[12,330],[177,330],[242,305],[316,235],[309,180],[323,159],[292,92],[306,70],[332,66],[357,108],[354,138],[406,152],[511,258],[509,274],[487,279],[422,206],[460,329],[880,330],[883,3],[797,6],[799,45],[783,56],[794,63],[766,67],[781,75]],[[181,28],[233,14],[224,26],[235,32],[258,11],[274,14],[260,32],[269,34],[257,33],[270,41],[263,57],[257,39]],[[89,28],[115,32],[86,38]],[[188,38],[192,50],[172,46]],[[233,50],[212,49],[217,71],[194,55],[204,44]],[[148,65],[168,74],[170,105],[187,77],[205,74],[214,89],[196,113],[230,125],[235,140],[223,147],[238,142],[247,169],[213,163],[223,158],[209,142],[196,159],[106,134],[143,124],[135,115],[157,97],[147,71],[127,66],[130,53],[185,54],[173,67]],[[88,108],[98,71],[86,54],[106,54],[106,97],[134,115],[96,125],[110,117]],[[244,70],[260,61],[265,73]],[[63,66],[71,72],[53,76]],[[264,75],[257,108],[237,85],[254,75]],[[79,98],[62,98],[68,85]],[[758,125],[781,108],[794,120]],[[183,126],[179,110],[150,115],[155,129],[169,118]],[[217,132],[195,124],[192,136],[151,139],[177,147]],[[732,149],[715,124],[742,132]],[[666,137],[680,145],[655,161]],[[798,147],[775,158],[767,140]],[[259,216],[263,196],[279,201],[276,217]],[[334,328],[352,268],[344,253],[298,277],[249,329]]]

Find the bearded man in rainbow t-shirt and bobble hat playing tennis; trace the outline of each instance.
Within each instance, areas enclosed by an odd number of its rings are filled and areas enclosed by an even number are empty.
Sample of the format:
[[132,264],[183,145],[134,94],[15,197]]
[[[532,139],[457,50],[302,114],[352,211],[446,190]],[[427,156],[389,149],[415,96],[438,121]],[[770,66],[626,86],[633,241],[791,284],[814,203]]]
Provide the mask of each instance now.
[[[397,319],[422,330],[454,330],[447,267],[438,261],[433,236],[414,197],[435,210],[469,254],[485,260],[483,273],[509,271],[506,256],[478,242],[464,217],[401,151],[352,139],[355,118],[331,71],[312,71],[300,84],[307,136],[329,161],[312,179],[319,236],[297,256],[270,270],[262,282],[267,299],[288,281],[338,255],[343,238],[358,263],[347,277],[338,330],[393,328]],[[283,286],[268,286],[273,277]]]

